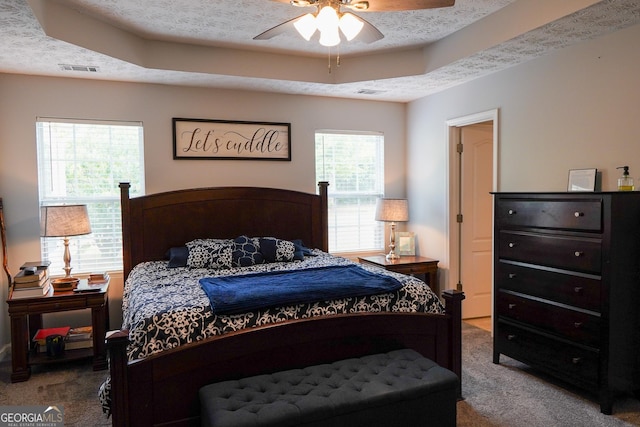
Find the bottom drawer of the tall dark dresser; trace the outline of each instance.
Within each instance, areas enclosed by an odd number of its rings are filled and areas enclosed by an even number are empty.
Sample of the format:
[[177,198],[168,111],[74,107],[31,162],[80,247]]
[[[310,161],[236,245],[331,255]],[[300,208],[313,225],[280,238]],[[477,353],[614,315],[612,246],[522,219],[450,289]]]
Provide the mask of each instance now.
[[498,322],[498,353],[583,387],[597,387],[599,351]]

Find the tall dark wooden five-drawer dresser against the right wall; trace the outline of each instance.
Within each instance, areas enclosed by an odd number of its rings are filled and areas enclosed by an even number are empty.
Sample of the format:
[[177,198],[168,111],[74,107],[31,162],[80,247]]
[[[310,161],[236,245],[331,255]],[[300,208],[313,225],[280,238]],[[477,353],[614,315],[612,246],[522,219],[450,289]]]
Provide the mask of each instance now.
[[640,192],[494,194],[493,362],[640,390]]

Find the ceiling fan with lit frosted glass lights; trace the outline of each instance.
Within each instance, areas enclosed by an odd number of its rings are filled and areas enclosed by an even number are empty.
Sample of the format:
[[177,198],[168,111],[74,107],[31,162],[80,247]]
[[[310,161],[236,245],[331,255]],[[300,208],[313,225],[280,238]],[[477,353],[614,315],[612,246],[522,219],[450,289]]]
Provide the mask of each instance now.
[[267,40],[291,29],[296,29],[306,40],[320,33],[320,44],[335,46],[340,43],[340,33],[347,40],[357,35],[359,40],[373,43],[384,37],[376,27],[351,12],[397,12],[404,10],[434,9],[453,6],[455,0],[272,0],[297,7],[315,7],[315,13],[307,13],[276,25],[258,34],[254,40]]

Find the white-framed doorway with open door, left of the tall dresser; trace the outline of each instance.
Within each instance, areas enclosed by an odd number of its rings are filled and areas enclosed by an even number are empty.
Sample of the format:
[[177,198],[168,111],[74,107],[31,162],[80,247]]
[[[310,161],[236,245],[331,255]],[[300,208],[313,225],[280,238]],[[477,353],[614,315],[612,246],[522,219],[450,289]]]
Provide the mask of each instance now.
[[498,110],[447,121],[450,280],[465,292],[463,319],[490,317]]

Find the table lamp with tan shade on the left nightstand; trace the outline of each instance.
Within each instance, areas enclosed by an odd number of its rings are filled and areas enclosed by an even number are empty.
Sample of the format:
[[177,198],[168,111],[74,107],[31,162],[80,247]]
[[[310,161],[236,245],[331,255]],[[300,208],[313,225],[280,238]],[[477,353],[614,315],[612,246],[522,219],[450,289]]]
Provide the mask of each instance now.
[[80,236],[89,233],[91,233],[91,224],[89,223],[86,205],[42,206],[40,208],[40,235],[42,237],[64,238],[63,259],[64,280],[66,282],[75,282],[76,284],[78,282],[78,279],[71,277],[69,236]]

